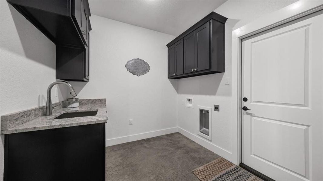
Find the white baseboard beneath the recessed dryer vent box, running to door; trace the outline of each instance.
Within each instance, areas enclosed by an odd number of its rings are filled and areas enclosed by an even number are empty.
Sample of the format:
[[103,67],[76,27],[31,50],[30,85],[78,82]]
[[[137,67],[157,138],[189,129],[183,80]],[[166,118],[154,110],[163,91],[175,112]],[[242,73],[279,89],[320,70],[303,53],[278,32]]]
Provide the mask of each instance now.
[[182,129],[180,127],[178,127],[178,132],[181,133],[182,135],[184,135],[185,137],[193,140],[194,142],[196,142],[197,144],[201,145],[202,147],[214,152],[215,154],[224,157],[225,159],[231,161],[232,160],[232,153],[230,153],[229,151],[220,148],[216,145],[214,145],[213,143],[205,140],[204,138],[201,138],[197,135],[194,135],[188,131],[186,131],[185,129]]

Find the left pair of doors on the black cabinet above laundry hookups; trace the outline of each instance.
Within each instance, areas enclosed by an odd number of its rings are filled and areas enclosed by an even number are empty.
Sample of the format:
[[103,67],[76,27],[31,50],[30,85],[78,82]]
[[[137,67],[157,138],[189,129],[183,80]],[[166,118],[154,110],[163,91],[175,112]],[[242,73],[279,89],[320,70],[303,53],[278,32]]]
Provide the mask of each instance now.
[[168,48],[168,77],[183,74],[183,41]]

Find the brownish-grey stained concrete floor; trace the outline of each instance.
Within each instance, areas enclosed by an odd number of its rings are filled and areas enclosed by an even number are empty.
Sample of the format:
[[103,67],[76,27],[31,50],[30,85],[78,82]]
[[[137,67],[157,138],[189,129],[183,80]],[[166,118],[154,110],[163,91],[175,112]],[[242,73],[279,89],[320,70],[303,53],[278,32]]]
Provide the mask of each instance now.
[[192,170],[219,158],[172,133],[106,148],[106,181],[199,181]]

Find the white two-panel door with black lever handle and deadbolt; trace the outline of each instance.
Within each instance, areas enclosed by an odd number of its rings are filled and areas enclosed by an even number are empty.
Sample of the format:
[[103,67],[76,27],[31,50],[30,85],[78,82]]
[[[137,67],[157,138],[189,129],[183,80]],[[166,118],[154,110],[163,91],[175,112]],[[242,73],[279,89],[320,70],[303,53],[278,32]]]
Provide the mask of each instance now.
[[323,14],[242,42],[242,163],[275,180],[323,181]]

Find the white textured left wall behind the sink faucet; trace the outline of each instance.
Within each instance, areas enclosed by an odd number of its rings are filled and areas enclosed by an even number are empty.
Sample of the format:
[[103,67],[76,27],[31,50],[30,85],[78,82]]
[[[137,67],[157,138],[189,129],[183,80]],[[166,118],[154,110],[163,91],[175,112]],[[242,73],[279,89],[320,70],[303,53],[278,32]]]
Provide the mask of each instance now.
[[[55,44],[5,0],[0,24],[0,115],[45,105],[47,87],[56,81]],[[54,94],[52,101],[58,98],[63,100]],[[4,136],[0,139],[2,180]]]

